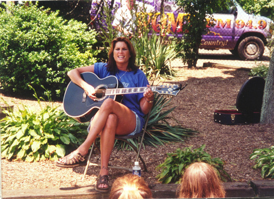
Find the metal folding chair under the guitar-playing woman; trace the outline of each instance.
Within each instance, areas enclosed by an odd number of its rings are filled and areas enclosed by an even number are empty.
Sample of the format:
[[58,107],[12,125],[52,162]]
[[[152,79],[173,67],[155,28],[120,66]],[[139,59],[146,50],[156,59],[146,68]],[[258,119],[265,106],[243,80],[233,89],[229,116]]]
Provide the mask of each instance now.
[[[144,166],[144,171],[147,171],[147,167],[146,167],[145,161],[143,160],[142,156],[140,155],[140,151],[141,151],[141,148],[142,148],[142,144],[143,144],[143,140],[144,140],[144,136],[145,136],[145,132],[146,132],[146,127],[147,127],[147,123],[148,123],[148,120],[149,120],[149,115],[150,115],[150,111],[147,114],[147,119],[146,119],[145,126],[144,126],[142,132],[137,133],[135,135],[115,136],[115,139],[122,140],[122,141],[126,142],[127,144],[129,144],[133,148],[133,150],[135,150],[135,152],[137,153],[137,157],[136,157],[135,161],[138,161],[138,159],[140,158],[140,160],[142,161],[143,166]],[[131,142],[129,142],[127,140],[127,139],[137,138],[137,137],[141,137],[141,136],[142,136],[142,138],[141,138],[141,142],[139,144],[139,149],[136,146],[134,146]],[[100,136],[98,136],[98,138],[99,137]],[[97,149],[99,149],[99,147],[96,145],[96,140],[94,141],[94,143],[92,145],[92,149],[90,150],[90,153],[88,155],[88,159],[87,159],[87,162],[86,162],[86,166],[85,166],[85,169],[84,169],[84,174],[83,174],[82,179],[84,179],[86,171],[87,171],[87,168],[88,168],[89,165],[92,165],[92,166],[101,166],[101,164],[96,164],[96,163],[90,162],[90,157],[92,156],[92,153],[94,151],[94,147],[96,147]],[[126,167],[121,167],[121,166],[110,166],[109,165],[109,168],[128,170],[128,171],[132,172],[132,168],[126,168]]]

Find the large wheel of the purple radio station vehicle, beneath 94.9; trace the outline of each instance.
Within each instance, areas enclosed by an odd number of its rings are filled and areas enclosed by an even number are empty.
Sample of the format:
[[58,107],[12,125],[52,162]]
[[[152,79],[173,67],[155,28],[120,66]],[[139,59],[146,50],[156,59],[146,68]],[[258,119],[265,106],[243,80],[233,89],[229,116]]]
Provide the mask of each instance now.
[[238,46],[238,55],[242,60],[256,60],[261,58],[264,44],[258,37],[247,37]]

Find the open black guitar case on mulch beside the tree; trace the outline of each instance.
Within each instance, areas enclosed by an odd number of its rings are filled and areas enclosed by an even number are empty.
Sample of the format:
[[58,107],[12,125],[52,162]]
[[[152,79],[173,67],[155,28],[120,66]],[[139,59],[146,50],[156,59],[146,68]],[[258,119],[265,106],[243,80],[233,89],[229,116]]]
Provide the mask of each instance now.
[[247,80],[238,93],[237,110],[215,110],[214,121],[226,125],[258,123],[264,83],[262,77],[253,77]]

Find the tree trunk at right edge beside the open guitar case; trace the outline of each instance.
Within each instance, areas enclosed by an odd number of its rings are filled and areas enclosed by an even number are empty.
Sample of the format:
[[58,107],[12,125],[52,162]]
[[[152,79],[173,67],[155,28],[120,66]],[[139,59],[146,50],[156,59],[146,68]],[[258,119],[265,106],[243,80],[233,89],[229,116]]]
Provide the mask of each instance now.
[[264,85],[260,123],[274,123],[274,51],[271,53],[268,73]]

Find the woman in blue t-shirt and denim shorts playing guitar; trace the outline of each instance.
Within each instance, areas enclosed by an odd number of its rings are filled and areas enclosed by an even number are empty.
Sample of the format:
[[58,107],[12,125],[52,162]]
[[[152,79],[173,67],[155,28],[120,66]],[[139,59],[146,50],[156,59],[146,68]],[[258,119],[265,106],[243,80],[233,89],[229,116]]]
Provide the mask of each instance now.
[[[82,80],[80,74],[93,72],[103,79],[116,76],[125,88],[149,87],[145,74],[135,65],[136,53],[131,42],[125,37],[112,41],[108,63],[95,63],[92,66],[76,68],[68,72],[73,83],[80,86],[86,95],[95,100],[95,88]],[[145,93],[124,95],[121,103],[106,99],[89,125],[86,140],[69,155],[60,158],[57,166],[74,167],[86,163],[86,154],[96,137],[101,135],[101,170],[96,190],[108,192],[108,164],[114,146],[115,135],[134,135],[141,132],[144,125],[143,116],[153,106],[154,94],[150,88]]]

